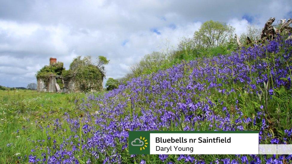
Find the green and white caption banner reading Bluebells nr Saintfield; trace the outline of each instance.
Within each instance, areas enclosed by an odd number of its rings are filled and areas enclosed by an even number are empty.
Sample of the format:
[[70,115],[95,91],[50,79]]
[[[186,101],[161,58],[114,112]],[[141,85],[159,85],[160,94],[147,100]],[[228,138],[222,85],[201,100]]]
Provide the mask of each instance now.
[[258,131],[129,131],[130,154],[258,154]]

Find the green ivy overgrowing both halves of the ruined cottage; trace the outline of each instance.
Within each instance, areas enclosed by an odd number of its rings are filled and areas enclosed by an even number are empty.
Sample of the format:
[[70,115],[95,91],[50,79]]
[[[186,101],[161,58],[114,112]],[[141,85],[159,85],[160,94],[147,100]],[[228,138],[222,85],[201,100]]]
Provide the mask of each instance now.
[[108,64],[104,56],[99,56],[97,62],[92,60],[91,56],[77,56],[70,64],[70,69],[65,70],[62,62],[52,65],[46,65],[36,73],[36,78],[42,78],[48,82],[51,76],[61,76],[57,78],[60,88],[64,87],[62,79],[73,80],[77,91],[100,91],[102,90],[102,81],[105,76],[104,65]]

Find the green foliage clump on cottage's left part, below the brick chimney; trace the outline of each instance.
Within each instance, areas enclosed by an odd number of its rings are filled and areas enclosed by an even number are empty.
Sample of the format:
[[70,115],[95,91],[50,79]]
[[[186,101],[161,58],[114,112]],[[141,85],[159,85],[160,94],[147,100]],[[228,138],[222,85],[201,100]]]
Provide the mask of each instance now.
[[57,62],[52,65],[45,65],[42,69],[37,71],[36,78],[45,78],[49,76],[61,75],[65,70],[63,62]]

